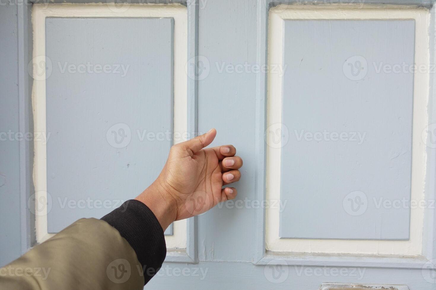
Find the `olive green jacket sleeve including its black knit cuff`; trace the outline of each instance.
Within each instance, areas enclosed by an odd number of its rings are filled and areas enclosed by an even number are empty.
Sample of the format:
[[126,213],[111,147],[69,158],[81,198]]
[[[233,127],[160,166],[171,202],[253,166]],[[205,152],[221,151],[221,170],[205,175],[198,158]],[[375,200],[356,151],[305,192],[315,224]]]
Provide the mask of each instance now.
[[101,220],[80,219],[0,268],[0,289],[142,289],[166,255],[153,212],[128,200]]

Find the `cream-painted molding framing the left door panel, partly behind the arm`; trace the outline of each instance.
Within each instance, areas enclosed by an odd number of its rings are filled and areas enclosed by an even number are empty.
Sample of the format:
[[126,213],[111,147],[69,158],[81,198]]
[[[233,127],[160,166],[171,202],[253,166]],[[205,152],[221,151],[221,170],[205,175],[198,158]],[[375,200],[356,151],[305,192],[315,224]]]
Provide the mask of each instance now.
[[[187,7],[181,4],[129,4],[128,7],[115,6],[114,3],[89,4],[34,4],[33,58],[45,60],[45,18],[46,17],[172,17],[174,19],[174,133],[186,136],[187,132]],[[41,59],[41,56],[43,59]],[[35,59],[35,57],[39,57]],[[34,65],[37,65],[34,63]],[[46,133],[46,91],[45,70],[34,76],[32,105],[34,109],[34,131]],[[177,135],[176,135],[177,136]],[[47,147],[34,141],[35,207],[37,201],[47,198]],[[182,142],[181,140],[180,142]],[[177,143],[177,142],[175,142]],[[42,210],[41,210],[42,208]],[[45,212],[44,212],[45,211]],[[47,208],[40,207],[35,217],[37,243],[42,243],[54,234],[47,230]],[[174,223],[172,236],[165,236],[167,248],[177,251],[187,247],[187,221]],[[186,255],[186,254],[185,254]]]

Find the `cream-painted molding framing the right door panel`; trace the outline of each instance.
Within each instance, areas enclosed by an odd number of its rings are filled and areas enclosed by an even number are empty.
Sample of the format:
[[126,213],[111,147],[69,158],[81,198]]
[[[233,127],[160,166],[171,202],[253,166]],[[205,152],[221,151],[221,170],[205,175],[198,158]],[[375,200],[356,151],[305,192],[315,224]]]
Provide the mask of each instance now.
[[[344,5],[279,5],[269,10],[268,63],[282,63],[283,20],[287,19],[347,19],[347,20],[415,20],[415,63],[429,64],[429,10],[416,7]],[[282,79],[277,73],[268,73],[266,127],[282,122]],[[421,139],[425,129],[429,100],[429,73],[415,73],[413,91],[412,139],[412,199],[424,198],[426,178],[426,145]],[[269,138],[269,136],[267,136]],[[280,198],[281,150],[266,149],[266,199]],[[422,254],[424,209],[414,208],[410,216],[410,240],[334,240],[334,239],[280,239],[279,209],[266,209],[266,250],[285,253],[405,255]]]

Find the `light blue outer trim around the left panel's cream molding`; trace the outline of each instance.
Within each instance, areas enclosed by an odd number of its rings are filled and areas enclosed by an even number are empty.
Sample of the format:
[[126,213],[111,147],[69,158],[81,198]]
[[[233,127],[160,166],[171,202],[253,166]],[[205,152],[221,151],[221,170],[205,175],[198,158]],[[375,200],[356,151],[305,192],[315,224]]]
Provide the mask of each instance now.
[[[180,0],[154,0],[155,4],[171,4],[181,3],[187,7],[187,60],[198,60],[198,0],[180,1]],[[30,3],[45,3],[44,1],[29,1]],[[126,1],[128,3],[142,3],[140,1]],[[54,1],[50,3],[101,3],[101,1]],[[108,1],[109,3],[109,1]],[[49,5],[49,4],[48,4]],[[32,116],[32,85],[33,78],[27,73],[27,64],[32,60],[33,52],[33,26],[31,13],[33,5],[23,5],[22,9],[18,9],[19,17],[19,33],[22,37],[19,43],[19,55],[23,58],[19,59],[19,77],[20,77],[20,128],[23,132],[34,131],[34,121]],[[198,66],[193,66],[191,75],[196,76]],[[187,77],[187,132],[189,136],[198,135],[198,80]],[[25,129],[27,128],[27,129]],[[25,129],[25,130],[24,130]],[[21,226],[21,249],[22,253],[26,253],[37,244],[35,232],[35,215],[31,213],[28,207],[28,201],[32,194],[35,193],[33,183],[33,167],[34,167],[34,144],[33,142],[20,143],[20,208],[22,211]],[[34,203],[33,203],[34,205]],[[32,206],[32,202],[30,204]],[[198,263],[197,253],[197,218],[191,217],[186,221],[186,248],[184,249],[168,249],[165,262],[174,263]]]

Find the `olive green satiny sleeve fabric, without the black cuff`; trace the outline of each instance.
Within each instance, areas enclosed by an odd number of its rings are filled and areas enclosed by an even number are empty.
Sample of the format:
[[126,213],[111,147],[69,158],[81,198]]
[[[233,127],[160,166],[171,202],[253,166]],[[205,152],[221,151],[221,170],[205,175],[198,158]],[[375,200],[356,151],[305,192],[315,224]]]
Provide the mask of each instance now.
[[119,231],[80,219],[0,268],[0,289],[143,289],[143,267]]

